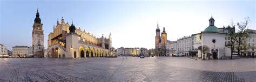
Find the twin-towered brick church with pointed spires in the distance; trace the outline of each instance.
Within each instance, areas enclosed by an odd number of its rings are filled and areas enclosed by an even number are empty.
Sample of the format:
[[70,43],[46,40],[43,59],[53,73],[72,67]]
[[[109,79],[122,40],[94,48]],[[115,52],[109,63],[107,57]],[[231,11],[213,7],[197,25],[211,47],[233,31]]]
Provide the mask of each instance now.
[[155,36],[155,54],[156,56],[166,56],[166,46],[167,46],[167,33],[164,31],[160,35],[160,29],[157,24],[156,36]]

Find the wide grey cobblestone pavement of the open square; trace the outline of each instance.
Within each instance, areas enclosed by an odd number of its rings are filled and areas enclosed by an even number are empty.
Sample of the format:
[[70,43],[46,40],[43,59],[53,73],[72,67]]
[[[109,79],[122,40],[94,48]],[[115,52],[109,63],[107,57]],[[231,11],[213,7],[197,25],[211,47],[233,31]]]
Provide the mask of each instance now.
[[0,58],[0,81],[256,81],[255,61],[256,58]]

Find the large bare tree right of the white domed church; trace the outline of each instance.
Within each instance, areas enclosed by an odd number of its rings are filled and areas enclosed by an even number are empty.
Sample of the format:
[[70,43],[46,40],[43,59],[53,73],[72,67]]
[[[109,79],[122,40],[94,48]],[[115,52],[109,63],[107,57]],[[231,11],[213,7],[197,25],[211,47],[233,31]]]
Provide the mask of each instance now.
[[[240,56],[240,46],[241,46],[242,40],[246,40],[248,38],[248,32],[246,32],[245,29],[249,22],[250,22],[249,17],[245,18],[244,22],[237,23],[237,25],[234,25],[233,21],[231,22],[232,26],[238,27],[237,32],[231,34],[230,36],[235,42],[238,43],[238,55],[239,56]],[[231,59],[232,59],[232,54],[233,53],[231,53]]]

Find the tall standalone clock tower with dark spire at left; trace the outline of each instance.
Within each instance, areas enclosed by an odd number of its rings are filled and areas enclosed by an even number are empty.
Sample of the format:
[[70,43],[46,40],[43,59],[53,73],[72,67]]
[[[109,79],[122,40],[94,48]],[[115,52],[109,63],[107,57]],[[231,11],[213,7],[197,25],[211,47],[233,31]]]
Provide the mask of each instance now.
[[36,18],[33,24],[32,31],[32,49],[33,55],[35,57],[43,57],[44,56],[44,31],[43,24],[41,23],[41,19],[39,18],[39,12],[37,9]]

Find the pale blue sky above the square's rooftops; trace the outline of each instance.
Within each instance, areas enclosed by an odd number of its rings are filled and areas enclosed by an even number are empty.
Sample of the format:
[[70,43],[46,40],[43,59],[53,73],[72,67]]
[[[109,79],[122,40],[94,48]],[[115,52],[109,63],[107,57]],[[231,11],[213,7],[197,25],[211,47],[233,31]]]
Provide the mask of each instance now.
[[85,29],[96,37],[112,35],[112,46],[154,48],[157,21],[167,40],[200,33],[209,26],[211,15],[215,26],[250,17],[249,29],[255,27],[255,1],[14,1],[2,0],[0,43],[8,49],[32,45],[32,25],[37,6],[43,22],[44,46],[57,18]]

